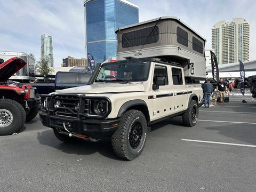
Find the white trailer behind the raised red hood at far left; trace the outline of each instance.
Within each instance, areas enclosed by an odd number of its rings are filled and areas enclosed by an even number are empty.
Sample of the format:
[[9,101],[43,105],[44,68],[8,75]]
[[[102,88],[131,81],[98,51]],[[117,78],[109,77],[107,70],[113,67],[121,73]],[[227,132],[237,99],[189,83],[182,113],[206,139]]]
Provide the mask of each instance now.
[[27,65],[22,67],[17,73],[9,79],[12,81],[26,82],[35,81],[35,59],[23,52],[0,51],[0,59],[7,61],[11,58],[20,58],[24,60]]

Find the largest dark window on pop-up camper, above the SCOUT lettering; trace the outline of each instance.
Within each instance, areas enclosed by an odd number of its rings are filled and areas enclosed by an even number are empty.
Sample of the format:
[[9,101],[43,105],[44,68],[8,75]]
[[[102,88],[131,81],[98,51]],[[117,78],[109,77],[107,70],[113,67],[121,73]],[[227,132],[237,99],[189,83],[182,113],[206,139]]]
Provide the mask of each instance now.
[[[150,35],[151,34],[151,35]],[[150,35],[150,36],[149,36]],[[159,28],[148,27],[125,33],[122,35],[122,47],[128,48],[132,46],[140,46],[143,44],[151,44],[158,42]]]

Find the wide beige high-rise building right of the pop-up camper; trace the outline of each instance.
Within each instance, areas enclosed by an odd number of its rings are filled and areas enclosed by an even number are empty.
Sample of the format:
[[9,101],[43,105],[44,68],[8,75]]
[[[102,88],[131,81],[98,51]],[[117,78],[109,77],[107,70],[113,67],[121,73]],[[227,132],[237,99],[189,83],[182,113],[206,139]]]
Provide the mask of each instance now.
[[250,25],[242,18],[216,23],[212,28],[212,49],[218,63],[249,61]]

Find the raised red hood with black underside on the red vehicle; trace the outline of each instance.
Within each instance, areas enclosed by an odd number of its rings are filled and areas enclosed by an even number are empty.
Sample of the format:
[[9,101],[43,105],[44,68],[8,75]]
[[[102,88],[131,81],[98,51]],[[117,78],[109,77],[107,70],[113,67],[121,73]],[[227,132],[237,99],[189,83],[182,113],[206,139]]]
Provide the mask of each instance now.
[[13,74],[27,63],[20,58],[12,58],[0,65],[0,82],[6,82]]

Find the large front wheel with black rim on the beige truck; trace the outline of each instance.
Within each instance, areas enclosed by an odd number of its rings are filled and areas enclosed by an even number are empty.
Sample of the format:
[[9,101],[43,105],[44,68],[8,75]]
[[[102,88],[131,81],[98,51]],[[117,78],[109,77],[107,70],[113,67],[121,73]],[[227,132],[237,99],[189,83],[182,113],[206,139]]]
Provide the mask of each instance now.
[[[126,160],[138,157],[145,147],[147,129],[147,121],[141,111],[134,109],[126,111],[120,119],[118,130],[111,137],[114,153]],[[137,134],[137,141],[132,139],[135,138],[133,133]],[[137,144],[134,145],[134,142]]]

